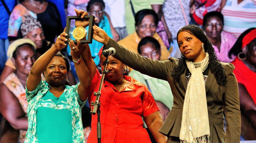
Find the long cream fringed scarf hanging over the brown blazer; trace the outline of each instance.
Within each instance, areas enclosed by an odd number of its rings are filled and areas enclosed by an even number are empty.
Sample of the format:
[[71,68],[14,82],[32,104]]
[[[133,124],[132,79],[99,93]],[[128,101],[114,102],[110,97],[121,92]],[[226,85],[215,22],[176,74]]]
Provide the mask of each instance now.
[[180,129],[181,143],[210,143],[210,127],[205,93],[203,73],[209,63],[209,54],[201,61],[201,67],[195,68],[193,62],[187,60],[191,72],[185,94],[182,122]]

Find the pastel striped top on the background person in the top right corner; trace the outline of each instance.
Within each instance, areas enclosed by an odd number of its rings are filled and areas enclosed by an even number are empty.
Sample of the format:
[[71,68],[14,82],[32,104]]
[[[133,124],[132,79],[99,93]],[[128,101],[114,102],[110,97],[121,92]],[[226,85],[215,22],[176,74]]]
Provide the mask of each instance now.
[[223,31],[233,34],[236,38],[245,30],[256,27],[256,0],[227,0],[221,13],[224,16]]

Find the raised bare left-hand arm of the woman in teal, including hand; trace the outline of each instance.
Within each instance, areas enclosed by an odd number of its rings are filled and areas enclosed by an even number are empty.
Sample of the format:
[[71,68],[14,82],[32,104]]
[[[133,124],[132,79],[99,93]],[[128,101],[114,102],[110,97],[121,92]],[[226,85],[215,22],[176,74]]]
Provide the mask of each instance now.
[[67,41],[65,37],[67,36],[67,33],[65,33],[65,31],[66,28],[64,29],[63,33],[60,34],[60,37],[56,39],[54,46],[40,56],[32,66],[26,84],[28,91],[33,91],[37,88],[41,82],[42,72],[46,69],[56,53],[66,47],[67,44],[65,44],[64,41]]

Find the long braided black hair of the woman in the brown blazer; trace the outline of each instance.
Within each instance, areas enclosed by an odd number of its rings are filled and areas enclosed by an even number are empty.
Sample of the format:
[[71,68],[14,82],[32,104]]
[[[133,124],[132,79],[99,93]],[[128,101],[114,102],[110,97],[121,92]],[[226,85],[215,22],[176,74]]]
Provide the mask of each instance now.
[[[218,85],[220,85],[220,86],[225,85],[226,79],[227,79],[226,72],[224,70],[224,67],[221,65],[219,59],[217,58],[217,55],[214,51],[211,41],[207,38],[204,31],[196,25],[187,25],[178,31],[177,37],[178,37],[179,33],[182,31],[186,31],[186,32],[194,35],[202,43],[204,43],[205,52],[208,52],[208,54],[209,54],[208,67],[211,69],[211,72],[214,74]],[[178,38],[177,38],[177,42],[178,42]],[[179,78],[180,78],[180,75],[182,75],[187,68],[187,64],[186,64],[187,58],[182,56],[182,57],[178,58],[178,60],[179,60],[179,63],[178,63],[178,65],[174,66],[173,71],[171,71],[171,76],[180,85]]]

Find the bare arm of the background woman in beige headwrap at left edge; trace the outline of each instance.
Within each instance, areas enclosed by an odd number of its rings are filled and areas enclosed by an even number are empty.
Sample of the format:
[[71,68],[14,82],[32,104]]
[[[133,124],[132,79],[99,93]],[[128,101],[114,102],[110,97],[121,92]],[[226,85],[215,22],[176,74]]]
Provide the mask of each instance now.
[[3,83],[0,89],[0,113],[15,130],[28,130],[28,117],[18,98]]

